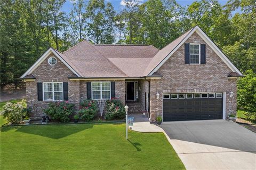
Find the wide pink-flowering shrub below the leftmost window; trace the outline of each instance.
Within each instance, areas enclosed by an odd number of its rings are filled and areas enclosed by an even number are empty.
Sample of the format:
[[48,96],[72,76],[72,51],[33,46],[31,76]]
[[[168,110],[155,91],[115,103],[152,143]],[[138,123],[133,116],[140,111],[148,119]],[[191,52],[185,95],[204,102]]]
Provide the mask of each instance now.
[[49,107],[44,111],[53,120],[69,122],[69,116],[75,111],[75,104],[68,101],[49,103]]

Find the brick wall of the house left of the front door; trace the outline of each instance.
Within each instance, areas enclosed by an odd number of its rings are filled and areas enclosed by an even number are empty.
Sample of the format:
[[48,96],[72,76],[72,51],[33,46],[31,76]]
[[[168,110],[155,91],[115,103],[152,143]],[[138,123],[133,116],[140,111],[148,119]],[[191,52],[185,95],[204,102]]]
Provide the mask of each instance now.
[[[38,82],[68,82],[68,99],[69,102],[76,104],[76,109],[79,108],[79,102],[87,99],[86,81],[69,80],[68,77],[73,75],[65,64],[57,58],[57,63],[54,66],[48,64],[50,54],[31,74],[36,77],[35,82],[26,82],[26,98],[27,106],[32,109],[32,119],[41,119],[43,109],[47,108],[49,101],[37,100],[37,83]],[[116,82],[116,98],[125,104],[125,81],[111,80]]]

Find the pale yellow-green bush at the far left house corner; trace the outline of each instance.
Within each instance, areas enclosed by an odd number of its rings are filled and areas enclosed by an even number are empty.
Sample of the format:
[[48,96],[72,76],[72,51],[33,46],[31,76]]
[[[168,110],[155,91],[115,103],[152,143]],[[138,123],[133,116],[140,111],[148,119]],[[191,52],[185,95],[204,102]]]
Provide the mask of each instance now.
[[22,100],[18,103],[7,102],[3,106],[1,114],[10,123],[18,124],[22,122],[23,118],[27,116],[26,100]]

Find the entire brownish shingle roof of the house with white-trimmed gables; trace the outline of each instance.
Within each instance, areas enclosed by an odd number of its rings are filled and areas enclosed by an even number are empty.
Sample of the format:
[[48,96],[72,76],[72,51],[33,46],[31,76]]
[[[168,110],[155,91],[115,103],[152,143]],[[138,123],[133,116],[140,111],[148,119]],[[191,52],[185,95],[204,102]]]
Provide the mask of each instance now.
[[217,53],[232,72],[243,76],[204,31],[199,26],[195,26],[166,45],[162,50],[158,50],[153,45],[93,45],[86,40],[63,53],[54,48],[49,48],[21,78],[31,74],[51,52],[73,71],[74,75],[70,75],[71,77],[154,77],[158,75],[156,71],[164,62],[195,32]]

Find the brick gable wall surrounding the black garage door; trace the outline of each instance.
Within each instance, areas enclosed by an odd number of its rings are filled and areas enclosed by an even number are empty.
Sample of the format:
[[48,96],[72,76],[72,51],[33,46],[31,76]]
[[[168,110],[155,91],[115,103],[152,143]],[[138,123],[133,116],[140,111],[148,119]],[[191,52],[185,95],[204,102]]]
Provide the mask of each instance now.
[[[196,33],[186,43],[206,44]],[[162,79],[150,80],[151,118],[162,114],[162,94],[179,92],[226,92],[226,115],[236,114],[236,79],[228,79],[228,66],[206,44],[206,64],[185,64],[184,44],[168,59],[157,72]],[[234,98],[230,99],[230,92]],[[156,93],[160,94],[159,100]]]

